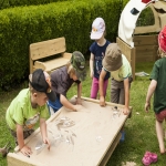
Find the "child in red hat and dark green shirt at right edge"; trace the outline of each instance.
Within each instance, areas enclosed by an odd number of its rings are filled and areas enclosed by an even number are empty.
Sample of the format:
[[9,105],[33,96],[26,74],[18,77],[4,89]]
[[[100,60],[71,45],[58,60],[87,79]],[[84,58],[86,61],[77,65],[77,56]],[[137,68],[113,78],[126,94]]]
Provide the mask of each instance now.
[[151,98],[154,94],[153,108],[156,116],[156,134],[160,154],[165,154],[163,121],[166,120],[166,27],[158,34],[158,55],[160,59],[155,62],[151,73],[145,111],[148,112],[151,108]]

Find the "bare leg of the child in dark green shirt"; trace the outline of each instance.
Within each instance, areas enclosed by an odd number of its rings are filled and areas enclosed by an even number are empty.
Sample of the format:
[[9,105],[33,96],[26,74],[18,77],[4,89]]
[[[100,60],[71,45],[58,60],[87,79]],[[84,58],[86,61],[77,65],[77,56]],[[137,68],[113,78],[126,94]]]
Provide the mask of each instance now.
[[156,133],[157,133],[158,143],[159,143],[160,154],[164,154],[166,149],[164,145],[163,123],[158,122],[157,120],[156,120]]

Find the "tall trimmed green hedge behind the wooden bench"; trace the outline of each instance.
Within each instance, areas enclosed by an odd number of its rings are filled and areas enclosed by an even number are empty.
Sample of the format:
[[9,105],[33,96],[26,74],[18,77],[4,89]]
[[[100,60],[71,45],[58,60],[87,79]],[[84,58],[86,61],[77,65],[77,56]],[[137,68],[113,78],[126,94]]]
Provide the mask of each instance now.
[[8,90],[29,75],[29,45],[65,37],[66,51],[89,52],[93,20],[106,22],[106,38],[115,42],[121,0],[80,0],[0,11],[0,89]]

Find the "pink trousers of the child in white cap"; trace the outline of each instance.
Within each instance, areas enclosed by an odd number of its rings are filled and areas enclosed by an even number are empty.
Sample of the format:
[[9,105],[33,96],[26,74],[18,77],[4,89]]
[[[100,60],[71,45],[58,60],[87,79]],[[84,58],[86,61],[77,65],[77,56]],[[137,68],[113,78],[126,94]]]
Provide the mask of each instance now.
[[[106,95],[108,80],[104,81],[104,96]],[[100,90],[100,81],[96,77],[93,77],[92,87],[91,87],[91,98],[96,98]]]

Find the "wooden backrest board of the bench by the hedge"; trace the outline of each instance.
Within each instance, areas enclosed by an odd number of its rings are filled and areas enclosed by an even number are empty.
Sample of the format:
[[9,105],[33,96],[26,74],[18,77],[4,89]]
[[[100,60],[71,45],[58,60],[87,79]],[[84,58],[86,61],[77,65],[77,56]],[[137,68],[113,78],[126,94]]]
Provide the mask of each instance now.
[[42,58],[65,52],[65,39],[58,38],[30,44],[30,56],[32,60],[39,60]]

